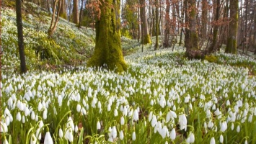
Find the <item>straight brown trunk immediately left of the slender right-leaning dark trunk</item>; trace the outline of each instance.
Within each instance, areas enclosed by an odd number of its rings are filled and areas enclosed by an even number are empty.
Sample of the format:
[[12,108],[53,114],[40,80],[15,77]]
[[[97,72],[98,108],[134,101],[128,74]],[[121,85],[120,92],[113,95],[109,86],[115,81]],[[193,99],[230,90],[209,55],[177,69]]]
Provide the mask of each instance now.
[[207,0],[203,0],[202,1],[202,37],[203,39],[206,38],[207,35],[207,14],[208,14],[208,1]]

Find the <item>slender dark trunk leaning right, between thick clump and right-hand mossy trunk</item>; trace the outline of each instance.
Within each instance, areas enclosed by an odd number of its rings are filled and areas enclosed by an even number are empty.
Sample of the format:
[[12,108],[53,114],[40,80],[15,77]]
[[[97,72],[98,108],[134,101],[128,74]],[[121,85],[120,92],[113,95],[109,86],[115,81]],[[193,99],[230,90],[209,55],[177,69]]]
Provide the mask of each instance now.
[[215,22],[213,22],[213,42],[211,43],[208,53],[213,53],[216,50],[216,44],[218,41],[219,26],[217,22],[219,21],[220,0],[216,0],[214,2],[216,2],[216,13],[215,13],[216,16],[215,16]]

